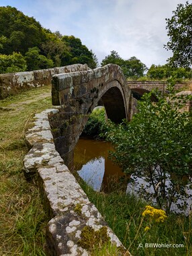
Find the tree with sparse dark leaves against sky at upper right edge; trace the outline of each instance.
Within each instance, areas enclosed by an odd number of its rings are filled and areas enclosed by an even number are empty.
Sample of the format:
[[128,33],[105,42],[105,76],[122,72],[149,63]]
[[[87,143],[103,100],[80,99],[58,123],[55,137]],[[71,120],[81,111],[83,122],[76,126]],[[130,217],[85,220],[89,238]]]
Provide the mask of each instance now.
[[175,67],[190,67],[192,65],[192,4],[177,5],[173,17],[166,19],[166,30],[170,38],[164,45],[165,49],[173,51],[173,57],[168,61]]

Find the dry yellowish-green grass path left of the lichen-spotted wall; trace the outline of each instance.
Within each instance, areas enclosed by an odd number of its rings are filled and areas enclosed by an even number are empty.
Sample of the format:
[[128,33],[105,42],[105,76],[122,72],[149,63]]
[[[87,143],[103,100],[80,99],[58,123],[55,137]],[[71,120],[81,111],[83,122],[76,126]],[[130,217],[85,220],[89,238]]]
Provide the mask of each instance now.
[[[0,255],[45,255],[48,216],[35,181],[23,175],[24,137],[35,113],[52,108],[50,86],[0,101]],[[44,98],[46,95],[46,98]],[[8,109],[9,108],[9,109]],[[10,109],[11,108],[11,109]]]

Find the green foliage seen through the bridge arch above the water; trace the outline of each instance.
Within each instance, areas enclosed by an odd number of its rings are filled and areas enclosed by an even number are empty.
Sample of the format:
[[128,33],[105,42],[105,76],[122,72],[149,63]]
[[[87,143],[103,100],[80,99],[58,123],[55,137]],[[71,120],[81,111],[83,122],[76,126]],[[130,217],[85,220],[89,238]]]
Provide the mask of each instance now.
[[83,135],[97,136],[105,127],[105,108],[93,110],[83,130]]

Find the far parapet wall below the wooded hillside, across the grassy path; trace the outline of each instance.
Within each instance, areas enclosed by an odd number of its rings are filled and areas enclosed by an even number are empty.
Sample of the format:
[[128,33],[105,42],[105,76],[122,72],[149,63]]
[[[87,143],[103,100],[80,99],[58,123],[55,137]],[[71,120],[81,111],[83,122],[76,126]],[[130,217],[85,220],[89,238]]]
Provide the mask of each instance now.
[[0,74],[0,100],[21,90],[51,85],[52,75],[85,70],[89,70],[87,65],[75,64],[53,69]]

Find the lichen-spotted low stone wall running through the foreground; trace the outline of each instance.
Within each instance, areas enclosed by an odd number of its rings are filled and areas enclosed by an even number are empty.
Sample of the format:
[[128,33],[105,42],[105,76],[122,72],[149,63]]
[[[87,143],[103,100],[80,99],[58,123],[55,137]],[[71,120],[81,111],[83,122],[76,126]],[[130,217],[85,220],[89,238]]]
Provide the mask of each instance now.
[[[111,243],[125,251],[55,150],[48,115],[57,112],[50,109],[36,114],[34,127],[26,133],[32,148],[23,160],[26,174],[38,173],[52,216],[47,228],[46,253],[50,256],[90,255],[81,246],[85,227],[93,228],[94,232],[105,231]],[[119,251],[117,255],[123,253]]]

